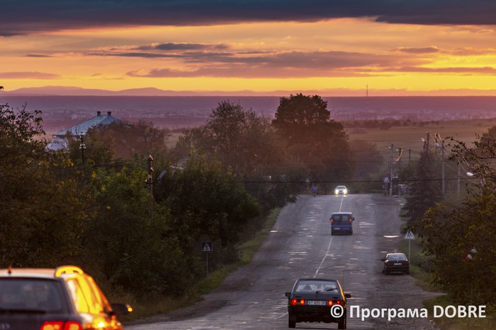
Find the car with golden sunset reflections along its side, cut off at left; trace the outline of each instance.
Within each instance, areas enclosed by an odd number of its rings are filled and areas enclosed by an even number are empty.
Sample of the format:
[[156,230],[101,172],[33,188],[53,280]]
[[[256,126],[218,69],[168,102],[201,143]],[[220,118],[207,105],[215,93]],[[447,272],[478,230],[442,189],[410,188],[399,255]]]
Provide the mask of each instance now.
[[0,329],[121,330],[117,316],[131,311],[110,304],[77,266],[0,269]]

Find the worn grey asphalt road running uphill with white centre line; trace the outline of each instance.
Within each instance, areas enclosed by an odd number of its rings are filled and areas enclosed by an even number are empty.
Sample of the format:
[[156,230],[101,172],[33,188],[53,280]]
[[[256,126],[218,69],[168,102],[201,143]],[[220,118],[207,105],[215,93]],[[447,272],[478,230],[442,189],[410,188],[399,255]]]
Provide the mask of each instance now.
[[[297,278],[337,278],[348,304],[421,309],[434,296],[407,275],[385,276],[380,259],[398,248],[401,198],[372,194],[302,195],[281,210],[252,263],[238,269],[205,300],[125,329],[288,329],[287,298]],[[332,212],[354,214],[353,235],[330,235]],[[431,312],[429,312],[430,314]],[[337,329],[337,324],[297,323],[297,328]],[[348,329],[436,329],[427,318],[361,319],[348,311]]]

